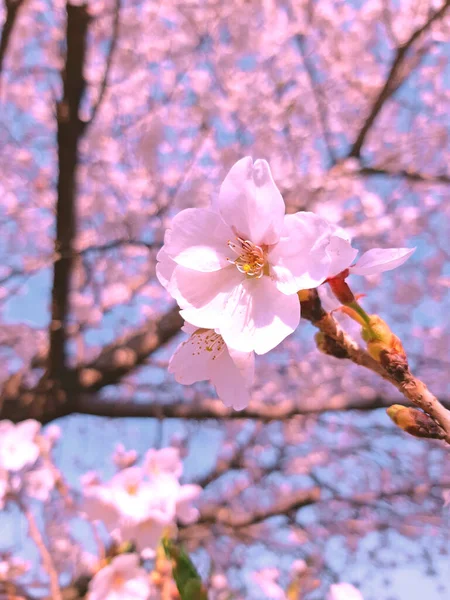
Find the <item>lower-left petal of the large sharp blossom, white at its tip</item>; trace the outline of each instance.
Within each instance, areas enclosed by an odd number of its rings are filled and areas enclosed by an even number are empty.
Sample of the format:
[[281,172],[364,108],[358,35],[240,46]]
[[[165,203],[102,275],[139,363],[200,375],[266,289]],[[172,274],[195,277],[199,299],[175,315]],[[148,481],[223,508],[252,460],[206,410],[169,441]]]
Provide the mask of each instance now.
[[184,309],[181,316],[197,327],[220,327],[230,297],[244,277],[234,265],[213,273],[177,267],[173,280],[178,289],[178,303]]

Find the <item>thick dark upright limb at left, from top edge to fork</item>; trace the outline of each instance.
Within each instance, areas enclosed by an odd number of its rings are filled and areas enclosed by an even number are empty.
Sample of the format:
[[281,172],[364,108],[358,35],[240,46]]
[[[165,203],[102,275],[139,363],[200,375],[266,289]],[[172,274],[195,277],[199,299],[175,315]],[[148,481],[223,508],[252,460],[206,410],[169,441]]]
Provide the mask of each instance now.
[[72,246],[76,235],[76,171],[78,142],[85,124],[79,107],[85,90],[83,67],[89,25],[87,5],[67,4],[67,53],[62,72],[63,98],[57,104],[58,120],[58,198],[56,203],[57,257],[53,268],[50,351],[50,378],[63,378],[66,368],[66,322],[69,311],[70,280],[73,268]]

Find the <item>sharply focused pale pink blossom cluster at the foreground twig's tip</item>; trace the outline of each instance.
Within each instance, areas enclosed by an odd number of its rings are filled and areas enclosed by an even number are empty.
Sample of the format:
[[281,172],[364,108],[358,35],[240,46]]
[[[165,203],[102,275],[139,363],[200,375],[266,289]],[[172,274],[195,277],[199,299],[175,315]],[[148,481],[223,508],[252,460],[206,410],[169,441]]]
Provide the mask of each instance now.
[[349,235],[285,204],[265,160],[239,160],[210,208],[176,215],[158,253],[157,276],[177,301],[189,339],[169,371],[179,383],[211,380],[237,410],[247,406],[254,354],[265,354],[300,322],[298,292],[336,276],[401,265],[410,248],[375,248],[355,263]]

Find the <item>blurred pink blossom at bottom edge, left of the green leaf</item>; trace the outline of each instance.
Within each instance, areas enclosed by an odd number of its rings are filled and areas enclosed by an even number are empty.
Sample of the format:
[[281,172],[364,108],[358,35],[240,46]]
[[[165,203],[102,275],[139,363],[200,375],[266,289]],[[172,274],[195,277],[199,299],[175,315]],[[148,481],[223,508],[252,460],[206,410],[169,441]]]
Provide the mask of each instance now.
[[152,585],[137,554],[119,554],[89,583],[88,600],[150,600]]

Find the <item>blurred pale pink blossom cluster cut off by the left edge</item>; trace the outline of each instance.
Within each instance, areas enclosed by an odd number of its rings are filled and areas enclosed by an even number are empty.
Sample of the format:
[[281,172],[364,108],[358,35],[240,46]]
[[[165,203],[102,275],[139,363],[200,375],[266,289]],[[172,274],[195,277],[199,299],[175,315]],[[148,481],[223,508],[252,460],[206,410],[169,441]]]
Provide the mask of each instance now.
[[49,500],[57,480],[49,454],[59,435],[57,426],[43,434],[34,419],[17,425],[0,421],[0,509],[9,498],[19,495]]

